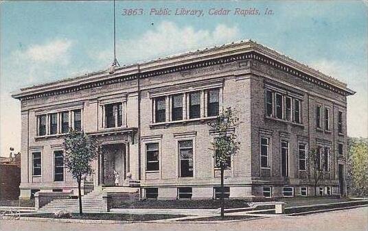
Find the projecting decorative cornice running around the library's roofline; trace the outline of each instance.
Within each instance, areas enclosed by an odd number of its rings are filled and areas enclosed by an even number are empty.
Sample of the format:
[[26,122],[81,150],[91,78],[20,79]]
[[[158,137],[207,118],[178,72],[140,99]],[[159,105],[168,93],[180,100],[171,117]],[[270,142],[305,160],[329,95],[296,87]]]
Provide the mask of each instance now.
[[284,71],[341,95],[354,95],[355,93],[353,90],[347,88],[346,84],[332,77],[311,69],[287,56],[283,56],[277,53],[277,51],[273,51],[252,41],[246,41],[240,43],[233,42],[230,45],[223,45],[203,51],[198,50],[192,53],[185,53],[181,56],[163,58],[142,64],[123,66],[113,74],[109,74],[108,71],[100,71],[69,80],[23,88],[20,93],[16,93],[12,97],[27,100],[51,95],[61,95],[108,84],[137,80],[138,78],[142,79],[179,71],[188,71],[239,60],[257,60],[258,62],[263,62],[264,64],[273,66],[275,69],[279,69],[280,71]]

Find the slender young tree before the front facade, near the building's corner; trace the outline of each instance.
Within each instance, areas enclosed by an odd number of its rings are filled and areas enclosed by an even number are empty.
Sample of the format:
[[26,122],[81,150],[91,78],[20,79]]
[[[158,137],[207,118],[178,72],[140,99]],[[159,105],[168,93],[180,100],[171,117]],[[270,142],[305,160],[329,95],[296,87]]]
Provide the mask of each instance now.
[[240,142],[236,141],[235,134],[239,119],[231,108],[226,108],[225,112],[208,124],[216,134],[216,138],[211,142],[211,149],[214,150],[216,167],[220,168],[221,172],[221,217],[224,217],[224,170],[230,167],[231,155],[239,151]]

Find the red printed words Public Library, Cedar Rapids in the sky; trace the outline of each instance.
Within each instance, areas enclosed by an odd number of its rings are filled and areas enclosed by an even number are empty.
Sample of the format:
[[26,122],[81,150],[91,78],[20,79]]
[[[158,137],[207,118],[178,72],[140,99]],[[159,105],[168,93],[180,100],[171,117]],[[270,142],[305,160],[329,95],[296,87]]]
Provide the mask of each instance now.
[[[269,10],[268,10],[269,11]],[[224,9],[224,8],[210,8],[208,10],[209,15],[260,15],[260,10],[256,8],[235,8],[233,10]],[[267,14],[267,10],[265,12]],[[150,15],[189,15],[189,16],[204,16],[204,10],[194,10],[194,9],[187,9],[187,8],[176,8],[176,10],[170,10],[169,8],[151,8]]]

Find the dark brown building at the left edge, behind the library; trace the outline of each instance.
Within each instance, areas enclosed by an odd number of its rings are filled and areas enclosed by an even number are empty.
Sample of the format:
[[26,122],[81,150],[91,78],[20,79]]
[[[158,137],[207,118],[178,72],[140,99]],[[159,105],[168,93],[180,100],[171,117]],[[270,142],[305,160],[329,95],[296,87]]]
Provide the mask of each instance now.
[[21,154],[0,157],[0,199],[18,199],[21,184]]

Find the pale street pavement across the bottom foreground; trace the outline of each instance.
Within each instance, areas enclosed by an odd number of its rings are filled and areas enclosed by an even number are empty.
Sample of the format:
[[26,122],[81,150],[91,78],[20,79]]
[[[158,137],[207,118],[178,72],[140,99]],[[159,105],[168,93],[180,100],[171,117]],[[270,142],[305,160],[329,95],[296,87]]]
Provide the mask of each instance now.
[[368,207],[297,217],[268,217],[224,223],[126,223],[120,225],[0,220],[1,231],[16,230],[368,230]]

